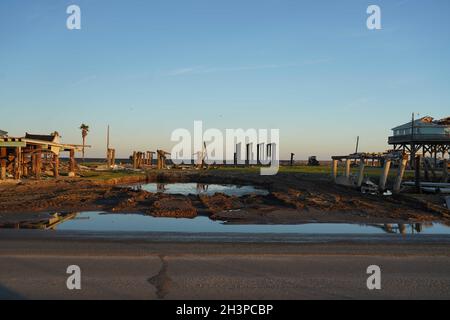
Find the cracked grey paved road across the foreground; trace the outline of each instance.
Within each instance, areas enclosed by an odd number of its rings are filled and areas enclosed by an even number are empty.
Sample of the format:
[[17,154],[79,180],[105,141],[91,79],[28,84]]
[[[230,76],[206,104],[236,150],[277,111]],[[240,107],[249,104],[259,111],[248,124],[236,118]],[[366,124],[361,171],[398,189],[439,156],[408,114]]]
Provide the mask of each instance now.
[[[448,237],[294,244],[20,233],[0,231],[1,299],[450,298]],[[66,287],[74,264],[81,268],[79,291]],[[366,286],[374,264],[382,270],[380,291]]]

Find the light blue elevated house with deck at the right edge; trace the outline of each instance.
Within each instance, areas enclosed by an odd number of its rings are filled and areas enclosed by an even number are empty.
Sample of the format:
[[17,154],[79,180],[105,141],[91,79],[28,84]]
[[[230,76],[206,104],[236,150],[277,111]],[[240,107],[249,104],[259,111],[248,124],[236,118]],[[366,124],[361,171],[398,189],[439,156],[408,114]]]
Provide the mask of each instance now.
[[435,159],[440,154],[443,158],[450,150],[450,117],[434,120],[423,117],[392,129],[393,136],[388,143],[394,150],[411,155],[411,161],[417,153]]

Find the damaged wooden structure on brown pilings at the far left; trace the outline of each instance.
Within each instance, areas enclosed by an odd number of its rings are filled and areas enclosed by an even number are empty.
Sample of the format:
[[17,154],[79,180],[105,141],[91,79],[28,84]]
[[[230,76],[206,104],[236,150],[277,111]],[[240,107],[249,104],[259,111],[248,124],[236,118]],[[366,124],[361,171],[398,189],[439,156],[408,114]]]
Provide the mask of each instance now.
[[75,152],[82,146],[63,144],[59,135],[26,134],[23,138],[0,137],[0,179],[23,177],[40,179],[45,168],[50,167],[52,176],[59,177],[60,156],[63,152],[69,155],[69,176],[75,176]]

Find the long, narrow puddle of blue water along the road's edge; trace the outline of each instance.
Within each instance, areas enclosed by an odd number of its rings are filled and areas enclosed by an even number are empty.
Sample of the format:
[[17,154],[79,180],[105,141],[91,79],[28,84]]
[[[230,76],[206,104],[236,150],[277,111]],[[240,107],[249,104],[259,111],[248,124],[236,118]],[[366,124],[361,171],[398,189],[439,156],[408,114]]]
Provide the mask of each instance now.
[[58,230],[71,231],[128,231],[183,233],[275,233],[275,234],[450,234],[450,227],[442,224],[344,224],[309,223],[301,225],[237,225],[213,221],[199,216],[195,219],[155,218],[140,214],[109,214],[84,212],[67,220]]

